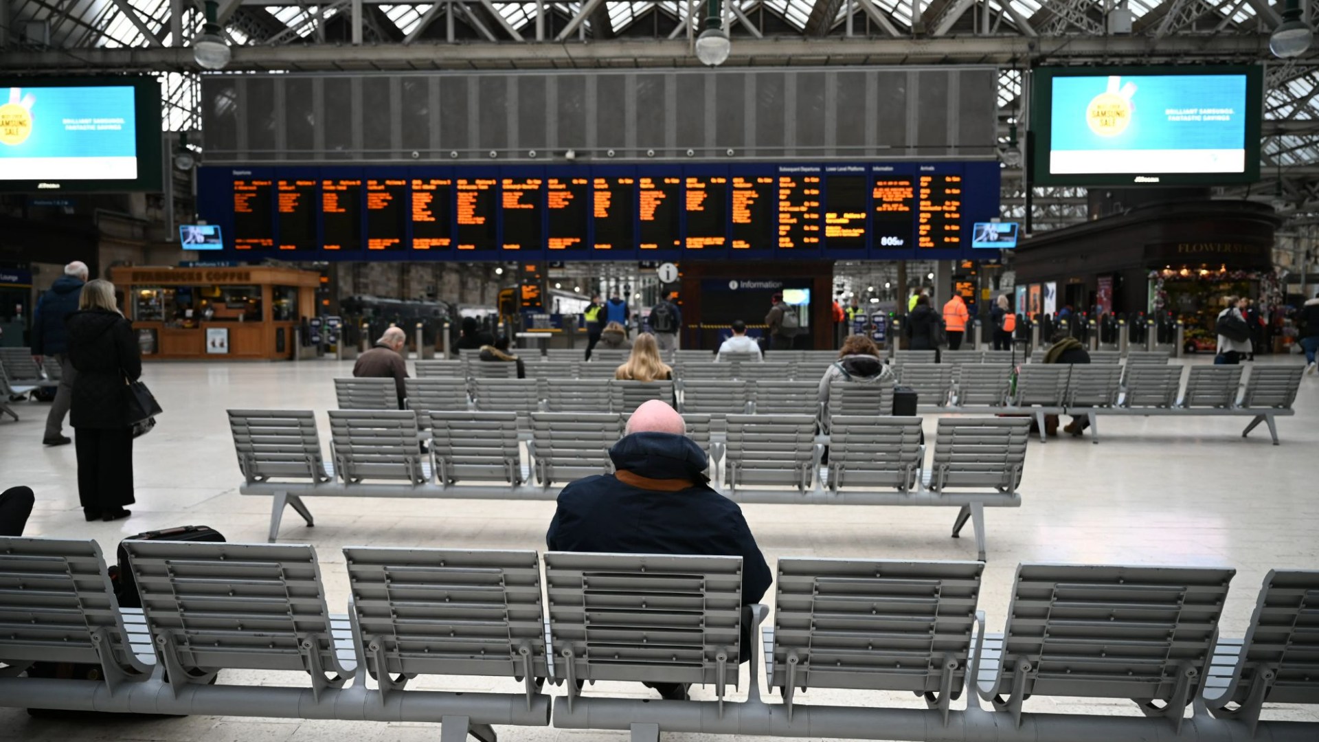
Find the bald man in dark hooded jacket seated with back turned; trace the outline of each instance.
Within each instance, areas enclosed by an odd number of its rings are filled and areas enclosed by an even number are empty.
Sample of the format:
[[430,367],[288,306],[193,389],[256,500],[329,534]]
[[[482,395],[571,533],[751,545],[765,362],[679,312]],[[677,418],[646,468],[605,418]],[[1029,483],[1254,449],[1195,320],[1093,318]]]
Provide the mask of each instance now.
[[[616,471],[563,487],[545,543],[555,552],[741,556],[741,602],[760,602],[773,581],[765,556],[737,503],[708,485],[706,452],[685,433],[667,404],[638,407],[609,449]],[[751,631],[744,621],[743,661],[751,659]],[[683,684],[646,685],[665,698],[687,696]]]

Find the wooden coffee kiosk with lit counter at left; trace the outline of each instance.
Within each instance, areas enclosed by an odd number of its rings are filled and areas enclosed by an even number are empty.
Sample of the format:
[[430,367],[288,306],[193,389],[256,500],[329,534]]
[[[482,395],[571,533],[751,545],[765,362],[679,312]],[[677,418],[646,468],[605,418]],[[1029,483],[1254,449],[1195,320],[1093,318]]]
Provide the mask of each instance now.
[[145,359],[293,358],[294,327],[315,316],[321,276],[277,267],[115,268]]

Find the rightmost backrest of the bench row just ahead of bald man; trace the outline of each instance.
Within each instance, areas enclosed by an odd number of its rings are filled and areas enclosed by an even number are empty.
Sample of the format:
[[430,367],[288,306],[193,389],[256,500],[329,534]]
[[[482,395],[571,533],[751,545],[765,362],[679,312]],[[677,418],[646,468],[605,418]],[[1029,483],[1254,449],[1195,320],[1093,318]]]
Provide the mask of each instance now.
[[930,461],[930,489],[992,489],[1021,485],[1030,437],[1028,417],[942,417]]

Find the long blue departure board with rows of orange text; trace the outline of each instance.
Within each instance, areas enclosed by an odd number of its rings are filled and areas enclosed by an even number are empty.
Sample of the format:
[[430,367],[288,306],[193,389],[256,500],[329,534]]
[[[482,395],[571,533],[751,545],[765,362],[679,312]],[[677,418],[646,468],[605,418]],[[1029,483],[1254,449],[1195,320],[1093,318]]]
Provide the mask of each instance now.
[[969,257],[997,162],[199,170],[236,259]]

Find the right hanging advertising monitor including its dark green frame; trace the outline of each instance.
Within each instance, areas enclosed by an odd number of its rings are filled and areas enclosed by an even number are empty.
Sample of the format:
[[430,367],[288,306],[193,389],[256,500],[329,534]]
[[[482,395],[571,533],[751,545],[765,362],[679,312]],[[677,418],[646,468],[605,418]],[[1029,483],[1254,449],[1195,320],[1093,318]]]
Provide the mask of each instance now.
[[1033,74],[1035,185],[1260,180],[1258,65],[1039,67]]

